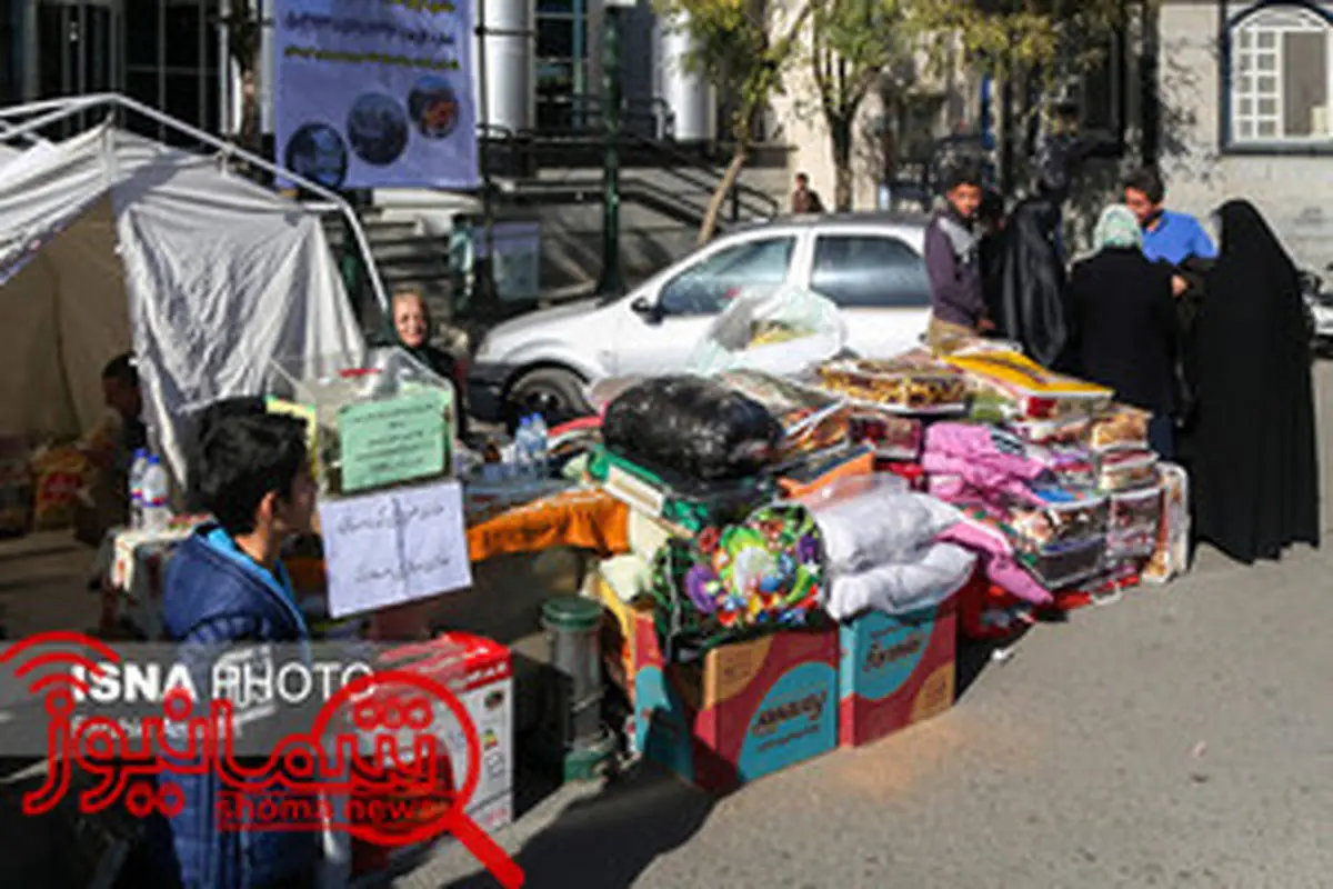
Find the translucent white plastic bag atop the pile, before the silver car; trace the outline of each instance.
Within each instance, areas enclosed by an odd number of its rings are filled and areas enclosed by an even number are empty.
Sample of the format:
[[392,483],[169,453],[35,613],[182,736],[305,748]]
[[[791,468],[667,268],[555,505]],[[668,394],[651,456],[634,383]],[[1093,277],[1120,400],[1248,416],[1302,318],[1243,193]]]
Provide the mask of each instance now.
[[[765,344],[764,328],[789,339]],[[686,368],[702,376],[740,369],[793,376],[845,345],[846,324],[832,300],[788,284],[746,288],[708,325]]]

